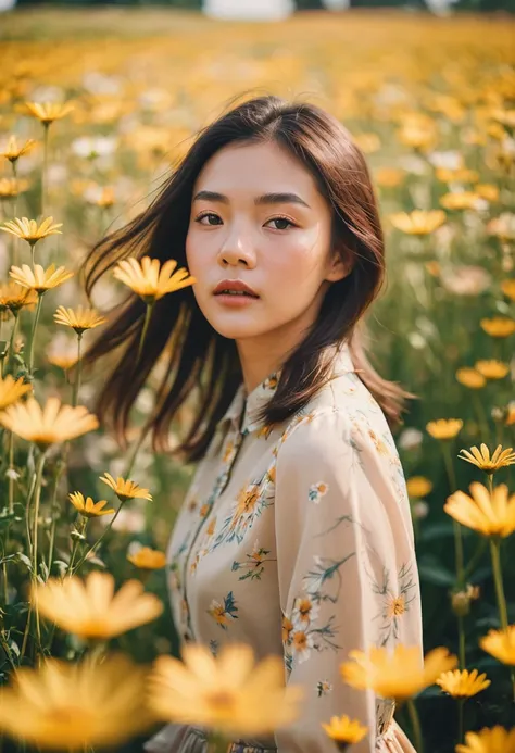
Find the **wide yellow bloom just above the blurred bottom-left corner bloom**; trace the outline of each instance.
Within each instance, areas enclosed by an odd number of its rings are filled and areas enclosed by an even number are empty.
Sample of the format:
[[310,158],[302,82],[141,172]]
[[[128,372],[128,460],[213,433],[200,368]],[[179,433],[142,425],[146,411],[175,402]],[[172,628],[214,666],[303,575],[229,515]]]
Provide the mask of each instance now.
[[93,570],[86,580],[49,578],[33,586],[33,598],[43,617],[81,638],[113,638],[160,616],[163,603],[145,593],[139,580],[126,580],[114,593],[111,573]]

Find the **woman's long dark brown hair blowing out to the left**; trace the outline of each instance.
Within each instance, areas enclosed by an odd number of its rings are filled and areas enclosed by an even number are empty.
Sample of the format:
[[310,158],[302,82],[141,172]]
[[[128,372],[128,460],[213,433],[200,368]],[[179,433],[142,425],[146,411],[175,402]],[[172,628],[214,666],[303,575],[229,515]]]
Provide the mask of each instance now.
[[[404,400],[412,396],[374,371],[356,331],[385,277],[384,237],[370,176],[348,130],[314,104],[256,97],[202,128],[148,209],[92,248],[80,269],[88,299],[99,278],[129,255],[150,255],[161,263],[172,258],[179,266],[186,265],[197,176],[219,149],[243,141],[275,141],[305,165],[332,208],[334,248],[342,249],[352,264],[344,279],[331,284],[311,331],[281,365],[277,390],[263,418],[267,424],[279,423],[303,407],[329,377],[331,364],[323,357],[325,349],[348,341],[361,379],[394,425]],[[109,313],[109,325],[84,356],[84,363],[91,365],[116,351],[115,363],[97,397],[95,410],[100,421],[126,445],[131,406],[156,362],[166,356],[155,410],[146,430],[152,431],[154,451],[169,452],[171,423],[194,393],[192,419],[174,452],[188,461],[201,459],[242,378],[234,340],[213,329],[188,287],[155,304],[135,369],[145,304],[131,293]]]

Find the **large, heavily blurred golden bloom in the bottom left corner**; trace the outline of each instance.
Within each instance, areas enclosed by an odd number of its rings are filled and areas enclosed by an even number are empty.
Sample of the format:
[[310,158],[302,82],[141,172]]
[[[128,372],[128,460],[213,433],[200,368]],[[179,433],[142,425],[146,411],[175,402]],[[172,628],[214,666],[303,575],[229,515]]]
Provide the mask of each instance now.
[[145,670],[123,654],[22,667],[0,690],[0,730],[50,750],[122,743],[149,726]]

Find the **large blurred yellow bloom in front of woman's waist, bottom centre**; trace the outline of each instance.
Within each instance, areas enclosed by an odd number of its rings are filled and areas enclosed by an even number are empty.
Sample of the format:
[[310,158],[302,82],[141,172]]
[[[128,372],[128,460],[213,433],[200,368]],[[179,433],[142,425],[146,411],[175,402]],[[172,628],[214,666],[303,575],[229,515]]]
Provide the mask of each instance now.
[[231,643],[214,658],[208,647],[189,643],[183,658],[155,660],[149,705],[161,718],[208,726],[227,737],[272,733],[297,718],[303,691],[285,688],[279,656],[254,664],[251,647]]

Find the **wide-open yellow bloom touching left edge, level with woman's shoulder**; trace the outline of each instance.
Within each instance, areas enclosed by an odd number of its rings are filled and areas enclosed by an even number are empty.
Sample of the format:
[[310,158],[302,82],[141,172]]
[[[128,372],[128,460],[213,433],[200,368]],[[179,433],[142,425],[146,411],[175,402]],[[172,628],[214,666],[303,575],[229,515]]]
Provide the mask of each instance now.
[[0,424],[41,449],[75,439],[99,426],[97,416],[84,405],[62,405],[53,397],[43,407],[35,398],[10,405],[0,413]]

